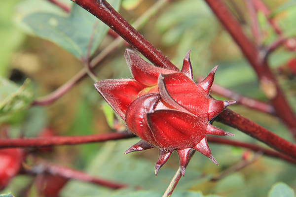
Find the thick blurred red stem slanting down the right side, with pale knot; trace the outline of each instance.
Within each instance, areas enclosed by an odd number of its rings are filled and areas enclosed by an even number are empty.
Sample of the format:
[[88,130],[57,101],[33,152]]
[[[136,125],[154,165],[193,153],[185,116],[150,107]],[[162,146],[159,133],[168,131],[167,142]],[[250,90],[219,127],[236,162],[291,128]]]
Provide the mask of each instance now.
[[277,115],[293,133],[296,139],[296,117],[282,93],[275,76],[270,70],[267,62],[261,61],[260,51],[253,42],[245,35],[239,23],[235,20],[222,0],[205,0],[213,12],[232,36],[234,41],[242,50],[244,56],[256,71],[260,85],[266,97],[272,102]]

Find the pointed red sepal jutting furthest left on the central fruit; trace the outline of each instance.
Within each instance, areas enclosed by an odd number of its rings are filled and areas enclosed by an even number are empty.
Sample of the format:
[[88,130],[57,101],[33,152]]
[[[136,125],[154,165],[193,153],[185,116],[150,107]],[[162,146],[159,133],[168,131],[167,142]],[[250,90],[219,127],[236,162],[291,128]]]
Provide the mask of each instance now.
[[139,92],[147,87],[134,79],[107,79],[95,83],[94,86],[123,120],[128,106],[137,98]]

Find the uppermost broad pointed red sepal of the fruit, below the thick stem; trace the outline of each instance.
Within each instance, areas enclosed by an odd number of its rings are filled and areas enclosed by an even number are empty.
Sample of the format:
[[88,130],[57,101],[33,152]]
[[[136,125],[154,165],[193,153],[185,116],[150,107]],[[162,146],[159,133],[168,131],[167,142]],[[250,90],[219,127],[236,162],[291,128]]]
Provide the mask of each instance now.
[[134,79],[147,86],[156,85],[160,73],[169,74],[177,72],[175,70],[153,66],[130,49],[126,49],[125,51],[125,60]]

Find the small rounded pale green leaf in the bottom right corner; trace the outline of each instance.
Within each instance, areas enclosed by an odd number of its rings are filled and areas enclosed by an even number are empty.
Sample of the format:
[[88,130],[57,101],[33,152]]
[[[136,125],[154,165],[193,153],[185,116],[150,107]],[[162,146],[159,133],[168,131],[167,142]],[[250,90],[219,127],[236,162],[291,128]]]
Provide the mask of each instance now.
[[269,191],[268,197],[295,197],[295,193],[286,183],[276,183]]

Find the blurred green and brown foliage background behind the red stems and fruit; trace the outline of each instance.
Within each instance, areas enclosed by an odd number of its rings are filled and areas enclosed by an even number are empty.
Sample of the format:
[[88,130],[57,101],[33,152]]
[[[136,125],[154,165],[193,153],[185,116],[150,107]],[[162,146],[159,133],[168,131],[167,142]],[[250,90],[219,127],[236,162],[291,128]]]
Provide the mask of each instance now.
[[[90,50],[93,56],[105,49],[113,39],[107,35],[107,26],[88,12],[70,0],[60,2],[71,7],[72,11],[66,13],[47,0],[0,1],[0,127],[1,131],[7,130],[11,138],[42,136],[47,130],[54,135],[87,135],[111,132],[114,129],[106,121],[112,120],[113,114],[96,92],[90,78],[77,83],[53,104],[31,106],[33,100],[50,94],[83,68],[81,59],[87,56],[89,38],[93,31],[95,34]],[[156,1],[108,2],[132,23]],[[270,7],[272,16],[284,35],[296,36],[296,2],[264,2]],[[252,37],[245,1],[227,0],[226,3],[249,37]],[[262,44],[267,46],[275,41],[276,34],[262,13],[258,13],[258,19]],[[214,66],[219,65],[215,83],[244,96],[267,100],[259,89],[255,72],[204,1],[172,0],[147,21],[140,33],[178,67],[182,66],[186,52],[191,49],[190,58],[195,78],[206,76]],[[125,45],[116,48],[100,63],[95,70],[99,79],[131,77],[124,60],[125,48]],[[287,66],[292,58],[296,58],[295,51],[281,47],[269,56],[268,61],[296,110],[296,77]],[[290,132],[274,116],[244,106],[230,108],[293,141]],[[234,140],[262,145],[233,128],[214,124],[234,133]],[[45,153],[34,150],[29,152],[34,157],[55,164],[81,169],[93,176],[130,185],[128,189],[113,191],[70,180],[63,187],[61,197],[161,196],[179,166],[178,156],[174,154],[162,167],[158,177],[155,177],[153,170],[157,150],[123,154],[137,140],[58,146]],[[292,189],[296,189],[295,166],[267,157],[260,157],[241,170],[218,181],[211,181],[211,178],[239,163],[246,153],[249,159],[252,159],[254,153],[219,144],[210,144],[210,147],[220,166],[212,164],[201,154],[195,154],[173,196],[202,197],[215,194],[213,197],[273,197],[279,191],[290,195],[285,197],[294,196]],[[29,155],[26,163],[33,162],[33,156]],[[25,196],[26,193],[29,197],[37,197],[39,190],[37,178],[20,174],[1,192],[12,192],[15,196]]]

